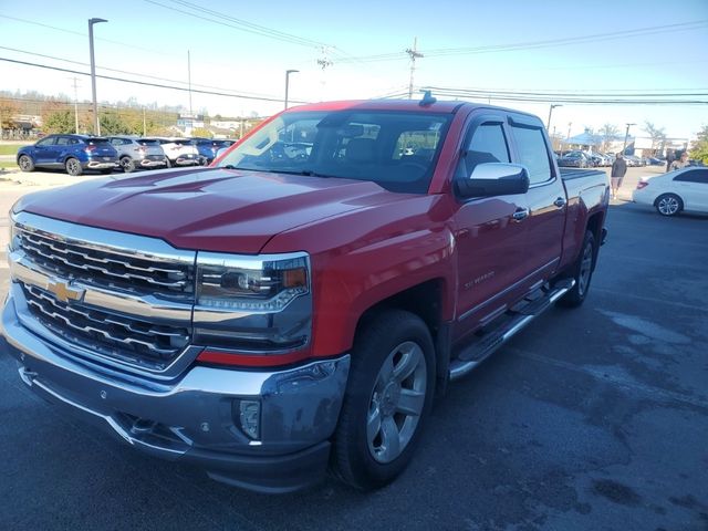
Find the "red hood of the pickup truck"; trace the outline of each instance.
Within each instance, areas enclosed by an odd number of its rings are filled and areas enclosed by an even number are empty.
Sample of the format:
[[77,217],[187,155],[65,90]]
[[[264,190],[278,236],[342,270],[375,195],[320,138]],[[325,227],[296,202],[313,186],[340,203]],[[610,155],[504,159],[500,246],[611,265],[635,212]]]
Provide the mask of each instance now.
[[187,168],[30,194],[14,210],[152,236],[181,249],[258,253],[284,230],[406,197],[369,181]]

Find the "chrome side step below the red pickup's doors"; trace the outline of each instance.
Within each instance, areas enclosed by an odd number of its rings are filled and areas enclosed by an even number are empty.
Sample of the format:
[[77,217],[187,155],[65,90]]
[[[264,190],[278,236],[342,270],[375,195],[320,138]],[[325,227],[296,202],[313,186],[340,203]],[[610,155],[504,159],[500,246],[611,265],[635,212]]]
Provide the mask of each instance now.
[[461,378],[479,366],[497,348],[525,329],[535,317],[542,315],[555,301],[572,290],[574,285],[575,280],[573,279],[559,282],[553,291],[530,302],[519,312],[509,312],[511,317],[499,330],[490,332],[486,337],[468,346],[458,357],[450,361],[450,381]]

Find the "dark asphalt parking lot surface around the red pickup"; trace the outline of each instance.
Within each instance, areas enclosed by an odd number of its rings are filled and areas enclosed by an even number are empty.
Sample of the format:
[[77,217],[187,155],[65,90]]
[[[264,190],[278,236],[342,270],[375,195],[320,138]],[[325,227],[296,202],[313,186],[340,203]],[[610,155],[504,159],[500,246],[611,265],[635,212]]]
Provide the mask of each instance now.
[[412,467],[368,494],[261,496],[154,460],[35,397],[0,354],[0,529],[706,530],[708,217],[616,201],[607,226],[584,306],[452,384]]

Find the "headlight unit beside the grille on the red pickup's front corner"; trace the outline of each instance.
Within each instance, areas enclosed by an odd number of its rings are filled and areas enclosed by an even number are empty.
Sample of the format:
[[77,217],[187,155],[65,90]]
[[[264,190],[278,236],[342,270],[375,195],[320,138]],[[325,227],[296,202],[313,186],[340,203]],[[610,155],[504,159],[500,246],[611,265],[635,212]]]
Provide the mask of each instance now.
[[274,353],[306,345],[309,256],[199,252],[194,325],[195,341],[210,347]]

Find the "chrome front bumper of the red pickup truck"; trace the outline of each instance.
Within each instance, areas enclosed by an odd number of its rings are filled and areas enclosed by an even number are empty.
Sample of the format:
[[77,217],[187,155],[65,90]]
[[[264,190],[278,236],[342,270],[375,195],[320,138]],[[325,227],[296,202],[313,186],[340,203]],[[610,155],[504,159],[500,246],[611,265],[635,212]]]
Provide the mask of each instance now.
[[[30,388],[139,450],[266,492],[298,490],[326,471],[348,355],[269,372],[192,366],[164,383],[72,357],[22,326],[12,295],[0,332]],[[258,440],[240,427],[240,400],[260,404]]]

